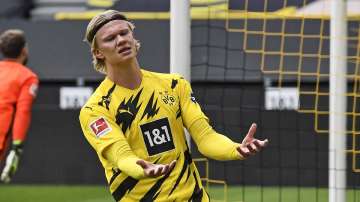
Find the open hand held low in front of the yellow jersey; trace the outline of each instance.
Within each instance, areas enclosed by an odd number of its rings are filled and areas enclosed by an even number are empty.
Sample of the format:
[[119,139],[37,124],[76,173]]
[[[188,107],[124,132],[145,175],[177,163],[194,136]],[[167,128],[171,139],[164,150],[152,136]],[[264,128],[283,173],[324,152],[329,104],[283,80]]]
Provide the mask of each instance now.
[[145,160],[138,160],[136,164],[144,169],[145,176],[158,177],[168,174],[175,167],[176,160],[169,164],[153,164]]

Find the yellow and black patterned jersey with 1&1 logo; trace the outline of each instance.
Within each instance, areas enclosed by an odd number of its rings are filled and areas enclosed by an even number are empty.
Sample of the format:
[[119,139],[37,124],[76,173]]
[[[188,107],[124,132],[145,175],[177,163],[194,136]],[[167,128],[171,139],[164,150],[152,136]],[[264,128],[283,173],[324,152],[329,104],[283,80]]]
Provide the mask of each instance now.
[[[80,112],[86,139],[97,152],[116,201],[208,201],[186,144],[184,127],[206,116],[190,84],[179,75],[141,70],[140,87],[130,90],[108,78]],[[109,145],[126,138],[137,157],[159,164],[177,160],[157,178],[134,179],[105,158]]]

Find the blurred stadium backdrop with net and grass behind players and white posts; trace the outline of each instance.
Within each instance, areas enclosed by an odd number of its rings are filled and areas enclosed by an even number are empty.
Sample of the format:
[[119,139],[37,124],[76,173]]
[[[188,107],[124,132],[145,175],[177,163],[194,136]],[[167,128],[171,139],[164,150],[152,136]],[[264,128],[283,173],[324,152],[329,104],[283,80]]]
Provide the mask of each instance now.
[[[214,201],[328,201],[330,8],[327,0],[191,0],[191,83],[213,127],[270,144],[246,161],[193,157]],[[348,0],[347,201],[360,201],[360,2]],[[104,78],[83,42],[88,21],[125,12],[140,66],[170,72],[170,0],[1,0],[0,31],[26,33],[39,94],[19,170],[0,201],[112,201],[79,108]]]

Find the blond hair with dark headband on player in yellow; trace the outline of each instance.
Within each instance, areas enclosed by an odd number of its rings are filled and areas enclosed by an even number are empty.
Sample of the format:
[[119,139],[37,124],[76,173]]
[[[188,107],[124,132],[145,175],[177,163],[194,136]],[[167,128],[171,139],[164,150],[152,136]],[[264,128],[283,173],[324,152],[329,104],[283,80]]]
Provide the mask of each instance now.
[[[89,22],[87,28],[86,28],[86,33],[85,33],[85,39],[84,41],[86,41],[90,47],[91,47],[91,53],[92,53],[92,58],[93,58],[93,65],[94,65],[94,69],[100,73],[106,74],[106,65],[104,60],[97,58],[94,55],[94,50],[97,49],[97,44],[96,44],[96,33],[97,31],[99,31],[99,29],[104,26],[105,24],[107,24],[110,21],[113,20],[124,20],[128,23],[130,30],[133,32],[135,29],[135,26],[133,23],[131,23],[125,15],[121,14],[119,11],[115,11],[115,10],[107,10],[104,11],[98,15],[96,15],[95,17],[93,17],[91,19],[91,21]],[[136,46],[136,50],[138,51],[140,48],[140,43],[139,41],[135,40],[135,46]]]

